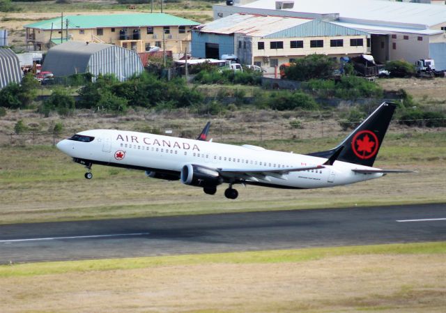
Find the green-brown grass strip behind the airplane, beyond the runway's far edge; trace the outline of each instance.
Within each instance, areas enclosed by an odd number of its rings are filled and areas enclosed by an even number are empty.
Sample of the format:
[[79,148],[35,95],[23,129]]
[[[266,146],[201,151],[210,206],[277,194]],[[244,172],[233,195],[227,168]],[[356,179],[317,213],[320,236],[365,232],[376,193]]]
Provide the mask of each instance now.
[[[341,138],[250,142],[282,151],[323,150]],[[239,187],[236,201],[201,188],[146,178],[142,171],[94,166],[84,179],[81,165],[52,146],[0,150],[1,223],[183,215],[296,208],[330,208],[446,201],[445,132],[389,134],[376,166],[416,169],[417,174],[388,175],[374,181],[321,190]]]

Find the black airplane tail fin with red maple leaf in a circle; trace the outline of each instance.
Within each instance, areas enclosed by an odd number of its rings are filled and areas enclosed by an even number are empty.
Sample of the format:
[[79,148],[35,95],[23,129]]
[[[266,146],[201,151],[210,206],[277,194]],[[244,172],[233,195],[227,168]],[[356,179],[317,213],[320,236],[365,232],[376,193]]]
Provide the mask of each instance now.
[[394,103],[383,102],[336,148],[309,153],[309,155],[330,158],[334,153],[339,153],[337,157],[339,161],[368,167],[373,166],[395,107]]

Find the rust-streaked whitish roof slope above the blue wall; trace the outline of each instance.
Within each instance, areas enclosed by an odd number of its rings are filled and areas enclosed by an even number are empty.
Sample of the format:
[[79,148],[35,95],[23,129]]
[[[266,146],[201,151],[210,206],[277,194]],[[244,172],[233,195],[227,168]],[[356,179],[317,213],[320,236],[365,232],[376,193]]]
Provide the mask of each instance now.
[[249,36],[266,36],[283,29],[288,29],[309,20],[295,17],[265,16],[251,14],[233,14],[198,27],[203,33],[233,34],[243,33]]

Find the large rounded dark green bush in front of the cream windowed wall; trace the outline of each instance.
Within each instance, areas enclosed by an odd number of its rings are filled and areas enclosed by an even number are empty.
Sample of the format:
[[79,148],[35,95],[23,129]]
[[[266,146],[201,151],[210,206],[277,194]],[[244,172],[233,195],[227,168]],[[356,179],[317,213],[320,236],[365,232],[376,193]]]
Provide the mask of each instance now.
[[327,79],[332,77],[333,70],[337,67],[336,62],[324,54],[310,54],[297,59],[289,68],[285,69],[288,79],[300,82],[313,78]]

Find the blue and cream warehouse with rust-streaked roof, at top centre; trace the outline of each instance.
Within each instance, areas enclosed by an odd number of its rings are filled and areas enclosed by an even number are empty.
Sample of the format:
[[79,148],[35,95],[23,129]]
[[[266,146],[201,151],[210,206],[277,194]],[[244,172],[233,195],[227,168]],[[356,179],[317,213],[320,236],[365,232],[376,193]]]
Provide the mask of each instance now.
[[241,63],[274,72],[309,54],[334,59],[367,54],[368,39],[369,33],[322,20],[233,14],[193,29],[192,52],[213,59],[236,54]]

